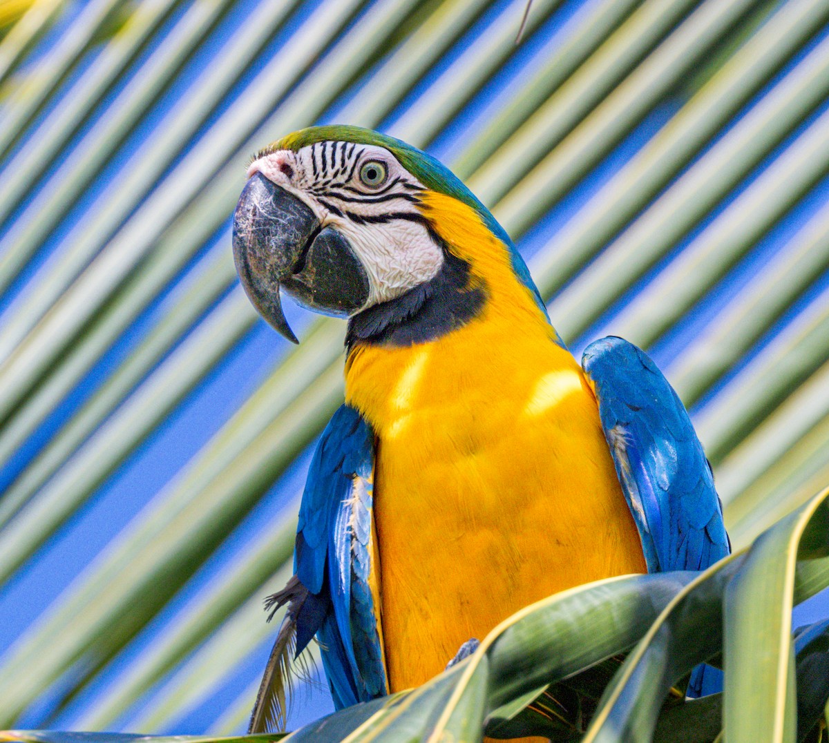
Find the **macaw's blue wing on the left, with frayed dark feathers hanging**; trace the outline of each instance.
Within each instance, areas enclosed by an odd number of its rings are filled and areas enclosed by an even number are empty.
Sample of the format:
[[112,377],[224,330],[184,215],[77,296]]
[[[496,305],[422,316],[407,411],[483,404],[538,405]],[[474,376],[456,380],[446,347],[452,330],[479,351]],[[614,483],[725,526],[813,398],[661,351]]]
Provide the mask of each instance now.
[[[299,507],[296,575],[269,598],[288,604],[274,644],[250,732],[284,721],[288,649],[298,656],[316,634],[337,709],[387,693],[379,607],[371,594],[374,434],[343,405],[322,432]],[[294,649],[295,648],[295,649]]]

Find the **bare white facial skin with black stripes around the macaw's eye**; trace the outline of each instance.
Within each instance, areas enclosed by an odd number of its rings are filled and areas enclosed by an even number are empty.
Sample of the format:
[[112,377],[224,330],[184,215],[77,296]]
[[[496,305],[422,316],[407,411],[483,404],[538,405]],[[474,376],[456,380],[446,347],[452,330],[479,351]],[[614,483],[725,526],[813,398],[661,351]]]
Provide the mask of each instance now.
[[417,208],[425,186],[384,147],[318,142],[259,157],[248,177],[256,172],[303,200],[322,227],[348,239],[371,286],[361,309],[428,282],[444,264],[443,249]]

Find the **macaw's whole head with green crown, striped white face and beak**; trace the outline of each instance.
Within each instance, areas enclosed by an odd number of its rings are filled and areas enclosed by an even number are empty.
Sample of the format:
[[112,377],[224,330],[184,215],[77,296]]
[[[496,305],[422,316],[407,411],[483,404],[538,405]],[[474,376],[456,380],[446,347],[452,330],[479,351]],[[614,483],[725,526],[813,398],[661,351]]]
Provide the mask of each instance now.
[[363,337],[435,297],[450,306],[432,309],[432,331],[468,320],[489,293],[468,246],[481,242],[467,234],[475,230],[501,246],[543,311],[501,225],[448,168],[405,142],[351,126],[303,129],[258,152],[247,175],[233,218],[236,269],[259,313],[293,342],[280,287],[313,310],[359,318]]

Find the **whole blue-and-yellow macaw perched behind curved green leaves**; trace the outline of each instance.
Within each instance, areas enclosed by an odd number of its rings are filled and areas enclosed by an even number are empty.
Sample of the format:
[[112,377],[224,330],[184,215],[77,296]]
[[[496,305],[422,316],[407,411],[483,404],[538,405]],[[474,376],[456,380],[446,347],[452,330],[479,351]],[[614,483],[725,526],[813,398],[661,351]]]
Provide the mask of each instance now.
[[362,128],[259,152],[234,215],[245,291],[348,316],[346,403],[299,511],[296,575],[251,723],[316,635],[337,708],[424,683],[523,606],[729,552],[710,467],[651,359],[576,363],[507,233],[452,172]]

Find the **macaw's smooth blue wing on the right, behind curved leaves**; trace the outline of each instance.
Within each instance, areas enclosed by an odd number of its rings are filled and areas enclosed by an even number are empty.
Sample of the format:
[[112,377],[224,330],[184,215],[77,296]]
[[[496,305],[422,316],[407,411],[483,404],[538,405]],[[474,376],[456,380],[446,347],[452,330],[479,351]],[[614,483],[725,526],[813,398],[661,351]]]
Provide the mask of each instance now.
[[[685,406],[652,360],[627,340],[590,344],[581,361],[604,436],[642,539],[648,572],[705,570],[730,552],[722,504]],[[697,667],[689,696],[719,691]]]

